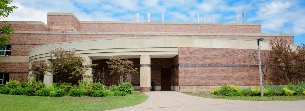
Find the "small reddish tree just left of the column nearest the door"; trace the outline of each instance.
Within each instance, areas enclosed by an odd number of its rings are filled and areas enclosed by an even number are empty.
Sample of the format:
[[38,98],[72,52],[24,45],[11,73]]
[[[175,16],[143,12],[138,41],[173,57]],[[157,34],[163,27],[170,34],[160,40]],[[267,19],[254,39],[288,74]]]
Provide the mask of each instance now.
[[138,73],[137,68],[134,68],[132,61],[117,57],[110,57],[109,62],[106,62],[110,69],[110,75],[116,74],[118,83],[130,82],[131,83],[131,74]]

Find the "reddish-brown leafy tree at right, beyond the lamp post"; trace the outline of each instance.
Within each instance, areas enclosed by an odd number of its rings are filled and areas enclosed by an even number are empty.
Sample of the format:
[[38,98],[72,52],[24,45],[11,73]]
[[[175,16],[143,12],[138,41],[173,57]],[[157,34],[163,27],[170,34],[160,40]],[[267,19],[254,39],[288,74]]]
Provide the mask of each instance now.
[[270,41],[270,45],[275,54],[274,63],[279,66],[280,73],[278,76],[291,82],[292,78],[296,75],[302,76],[304,73],[304,44],[298,46],[296,50],[290,47],[284,39],[277,39]]

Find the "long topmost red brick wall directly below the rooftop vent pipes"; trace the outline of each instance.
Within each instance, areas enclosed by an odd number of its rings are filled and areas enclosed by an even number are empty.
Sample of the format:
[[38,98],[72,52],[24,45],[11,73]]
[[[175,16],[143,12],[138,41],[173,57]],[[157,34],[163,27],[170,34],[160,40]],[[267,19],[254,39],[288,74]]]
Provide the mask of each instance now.
[[[49,17],[49,16],[48,16]],[[63,25],[61,25],[63,26]],[[80,31],[93,32],[204,32],[261,33],[260,25],[206,25],[163,23],[81,23]]]

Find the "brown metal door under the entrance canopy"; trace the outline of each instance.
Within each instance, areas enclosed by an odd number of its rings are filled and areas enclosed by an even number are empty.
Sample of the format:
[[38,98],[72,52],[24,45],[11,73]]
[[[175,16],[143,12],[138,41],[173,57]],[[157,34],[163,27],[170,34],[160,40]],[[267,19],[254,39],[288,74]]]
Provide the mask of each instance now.
[[161,68],[161,90],[171,90],[170,68]]

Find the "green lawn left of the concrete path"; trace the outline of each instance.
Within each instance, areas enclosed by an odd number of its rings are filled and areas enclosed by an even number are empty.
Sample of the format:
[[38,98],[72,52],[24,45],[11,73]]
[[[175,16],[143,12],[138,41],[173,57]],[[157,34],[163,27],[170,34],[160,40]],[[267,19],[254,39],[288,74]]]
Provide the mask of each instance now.
[[113,97],[41,97],[0,94],[3,111],[75,111],[109,110],[133,106],[147,100],[142,92],[133,92],[127,96]]

